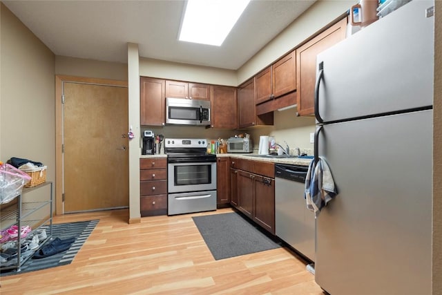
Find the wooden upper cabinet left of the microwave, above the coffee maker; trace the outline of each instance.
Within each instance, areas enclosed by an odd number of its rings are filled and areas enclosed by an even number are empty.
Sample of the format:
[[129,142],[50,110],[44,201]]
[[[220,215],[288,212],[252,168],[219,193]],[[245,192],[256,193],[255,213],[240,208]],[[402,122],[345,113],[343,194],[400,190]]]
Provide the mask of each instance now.
[[163,126],[166,122],[163,79],[140,77],[140,124]]

